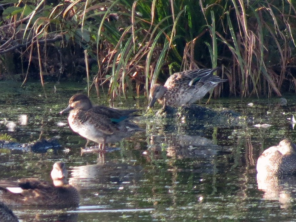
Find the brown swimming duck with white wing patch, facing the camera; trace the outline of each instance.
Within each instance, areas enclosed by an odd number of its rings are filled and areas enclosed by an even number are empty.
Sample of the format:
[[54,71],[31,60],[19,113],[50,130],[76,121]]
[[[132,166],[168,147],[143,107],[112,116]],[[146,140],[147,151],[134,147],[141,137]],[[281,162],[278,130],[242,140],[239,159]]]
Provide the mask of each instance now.
[[36,178],[23,178],[18,181],[0,181],[0,201],[7,205],[46,205],[77,207],[79,193],[68,184],[67,169],[63,162],[53,165],[53,183]]

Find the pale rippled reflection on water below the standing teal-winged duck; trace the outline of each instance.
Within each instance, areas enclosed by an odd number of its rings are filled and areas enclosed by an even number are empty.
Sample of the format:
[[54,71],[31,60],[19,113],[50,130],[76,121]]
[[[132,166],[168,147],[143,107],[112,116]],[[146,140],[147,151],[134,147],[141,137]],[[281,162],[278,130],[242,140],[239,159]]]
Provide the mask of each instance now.
[[75,186],[83,197],[81,205],[89,205],[94,192],[100,195],[110,195],[110,192],[139,187],[139,180],[143,176],[143,168],[134,162],[124,163],[107,161],[106,163],[75,166],[71,170],[69,183]]

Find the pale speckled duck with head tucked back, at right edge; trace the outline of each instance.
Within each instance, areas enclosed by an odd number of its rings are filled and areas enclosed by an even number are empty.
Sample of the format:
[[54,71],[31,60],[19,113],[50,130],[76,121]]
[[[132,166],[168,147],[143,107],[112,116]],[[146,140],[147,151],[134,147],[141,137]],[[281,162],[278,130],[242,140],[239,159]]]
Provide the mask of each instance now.
[[296,145],[284,139],[279,145],[269,147],[258,158],[256,168],[259,176],[295,174]]

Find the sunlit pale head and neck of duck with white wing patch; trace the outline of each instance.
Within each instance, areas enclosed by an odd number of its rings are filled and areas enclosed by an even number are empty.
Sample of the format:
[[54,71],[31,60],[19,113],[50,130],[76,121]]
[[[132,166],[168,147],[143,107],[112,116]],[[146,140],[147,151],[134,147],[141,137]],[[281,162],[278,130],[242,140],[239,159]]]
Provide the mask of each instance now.
[[63,186],[68,184],[68,171],[66,169],[66,164],[61,161],[54,163],[50,176],[52,177],[54,186]]

